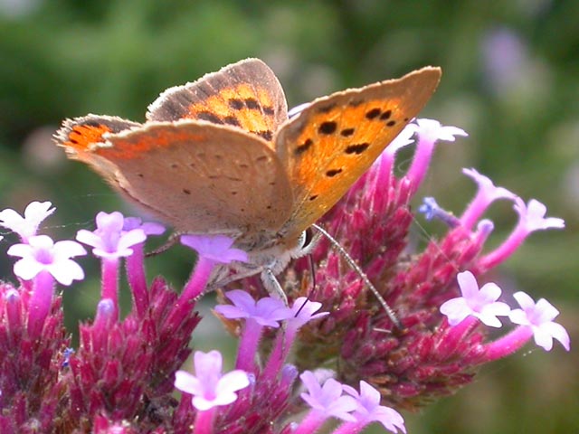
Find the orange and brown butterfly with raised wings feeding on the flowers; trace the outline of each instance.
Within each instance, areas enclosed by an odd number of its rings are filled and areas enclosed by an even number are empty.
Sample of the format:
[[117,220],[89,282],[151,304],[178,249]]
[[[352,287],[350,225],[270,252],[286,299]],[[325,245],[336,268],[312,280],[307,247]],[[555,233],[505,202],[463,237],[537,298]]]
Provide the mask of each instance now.
[[65,120],[55,142],[177,231],[233,237],[248,274],[271,276],[440,78],[425,67],[315,99],[289,118],[273,71],[246,59],[165,90],[145,123],[90,114]]

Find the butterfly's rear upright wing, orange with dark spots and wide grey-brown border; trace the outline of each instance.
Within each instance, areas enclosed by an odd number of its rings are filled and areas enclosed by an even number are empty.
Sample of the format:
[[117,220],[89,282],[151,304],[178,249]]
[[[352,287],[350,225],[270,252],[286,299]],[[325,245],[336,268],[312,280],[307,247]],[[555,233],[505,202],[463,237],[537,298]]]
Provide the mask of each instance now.
[[182,118],[242,128],[271,141],[288,118],[280,81],[259,59],[246,59],[165,90],[147,112],[149,121]]

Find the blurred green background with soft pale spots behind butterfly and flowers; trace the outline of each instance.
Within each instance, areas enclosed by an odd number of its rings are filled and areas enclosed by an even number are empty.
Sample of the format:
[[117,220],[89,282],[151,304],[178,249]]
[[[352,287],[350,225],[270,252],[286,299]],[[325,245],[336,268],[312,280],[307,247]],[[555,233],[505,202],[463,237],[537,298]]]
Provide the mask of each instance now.
[[[0,208],[32,200],[58,209],[44,228],[62,239],[91,229],[100,210],[129,212],[97,175],[65,159],[51,135],[62,118],[86,113],[144,120],[160,91],[242,58],[267,61],[289,106],[426,64],[444,71],[422,113],[463,127],[470,137],[439,147],[421,196],[460,213],[476,167],[496,184],[547,204],[565,231],[535,233],[490,278],[507,292],[547,297],[579,338],[579,3],[343,0],[325,2],[188,0],[0,0]],[[407,162],[401,160],[401,168]],[[508,204],[493,207],[497,230],[515,223]],[[419,239],[440,224],[415,224]],[[8,237],[10,238],[10,237]],[[0,242],[5,250],[6,241]],[[178,287],[191,267],[185,250],[150,261]],[[67,322],[90,318],[92,278],[67,289]],[[12,278],[13,261],[0,259]],[[216,327],[216,336],[224,332]],[[194,335],[209,348],[208,332]],[[574,342],[572,341],[572,345]],[[409,432],[579,432],[579,357],[560,345],[487,366],[455,396],[405,414]],[[379,431],[376,431],[379,432]]]

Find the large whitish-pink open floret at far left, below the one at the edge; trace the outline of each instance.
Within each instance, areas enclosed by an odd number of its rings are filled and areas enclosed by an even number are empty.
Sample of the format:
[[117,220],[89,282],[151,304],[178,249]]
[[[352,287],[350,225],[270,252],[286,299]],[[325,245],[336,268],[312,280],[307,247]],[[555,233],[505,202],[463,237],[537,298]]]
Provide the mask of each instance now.
[[62,285],[84,278],[81,266],[72,257],[86,255],[76,241],[54,242],[48,235],[35,235],[28,243],[14,244],[8,249],[10,256],[21,259],[14,264],[14,274],[24,280],[35,278],[41,271],[48,271]]

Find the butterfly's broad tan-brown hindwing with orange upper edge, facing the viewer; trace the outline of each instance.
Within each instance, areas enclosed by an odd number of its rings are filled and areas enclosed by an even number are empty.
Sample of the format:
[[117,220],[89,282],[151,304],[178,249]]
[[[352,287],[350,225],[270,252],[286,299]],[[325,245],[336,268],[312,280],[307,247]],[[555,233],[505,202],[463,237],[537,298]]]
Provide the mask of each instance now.
[[61,145],[177,230],[276,231],[288,219],[288,177],[259,137],[182,120],[150,122],[103,138],[85,149]]

